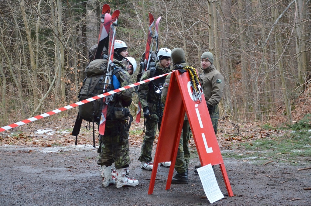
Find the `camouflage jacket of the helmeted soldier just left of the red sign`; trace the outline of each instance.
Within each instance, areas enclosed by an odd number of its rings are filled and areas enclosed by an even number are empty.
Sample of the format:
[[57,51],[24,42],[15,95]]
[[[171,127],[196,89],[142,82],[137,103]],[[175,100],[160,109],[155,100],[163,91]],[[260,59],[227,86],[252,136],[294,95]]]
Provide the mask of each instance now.
[[[168,73],[170,68],[161,68],[159,65],[159,61],[156,61],[156,71],[152,77]],[[142,74],[142,78],[140,81],[151,78],[151,70],[147,70]],[[137,88],[137,95],[142,104],[142,108],[148,106],[148,103],[157,104],[160,99],[160,94],[156,93],[158,88],[161,88],[165,82],[165,77],[161,77],[159,79],[153,80],[151,82],[141,84]]]

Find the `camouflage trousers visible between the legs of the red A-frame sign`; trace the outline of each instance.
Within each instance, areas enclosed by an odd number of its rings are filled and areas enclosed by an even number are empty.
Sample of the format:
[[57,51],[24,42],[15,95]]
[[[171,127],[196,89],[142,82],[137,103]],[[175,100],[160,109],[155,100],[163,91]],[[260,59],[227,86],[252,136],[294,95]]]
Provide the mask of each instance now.
[[183,120],[183,129],[181,130],[179,146],[175,162],[175,170],[179,173],[186,172],[190,162],[190,150],[188,141],[191,138],[191,130],[188,119]]

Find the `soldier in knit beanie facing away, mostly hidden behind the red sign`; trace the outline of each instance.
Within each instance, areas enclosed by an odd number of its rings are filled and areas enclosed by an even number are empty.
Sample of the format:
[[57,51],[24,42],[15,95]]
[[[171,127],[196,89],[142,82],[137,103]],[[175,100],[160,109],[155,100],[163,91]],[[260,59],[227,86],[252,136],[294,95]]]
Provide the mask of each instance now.
[[[174,48],[171,52],[171,58],[173,61],[173,69],[179,68],[180,66],[186,67],[185,53],[181,48]],[[166,76],[165,83],[162,89],[161,101],[165,103],[167,91],[169,87],[170,74]],[[188,165],[190,162],[190,150],[188,147],[188,141],[191,138],[191,130],[187,115],[183,120],[183,128],[181,130],[179,146],[175,162],[175,170],[177,174],[172,179],[172,184],[188,184]]]

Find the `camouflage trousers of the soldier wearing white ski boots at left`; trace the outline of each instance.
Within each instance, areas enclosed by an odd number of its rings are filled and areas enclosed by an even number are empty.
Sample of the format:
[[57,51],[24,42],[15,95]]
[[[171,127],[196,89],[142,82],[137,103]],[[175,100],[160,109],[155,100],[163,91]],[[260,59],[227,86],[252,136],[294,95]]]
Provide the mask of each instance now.
[[[115,168],[128,167],[131,163],[129,157],[127,123],[123,120],[106,121],[105,133],[100,135],[100,147],[98,165]],[[100,150],[100,149],[99,149]]]

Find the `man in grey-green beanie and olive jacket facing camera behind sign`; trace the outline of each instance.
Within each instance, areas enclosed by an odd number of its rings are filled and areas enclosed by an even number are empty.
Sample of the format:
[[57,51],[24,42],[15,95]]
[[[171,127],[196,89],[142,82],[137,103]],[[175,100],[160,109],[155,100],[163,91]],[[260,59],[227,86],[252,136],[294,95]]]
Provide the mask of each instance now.
[[[203,86],[205,101],[213,124],[214,132],[217,133],[217,124],[219,119],[218,103],[222,97],[225,86],[224,77],[215,68],[214,56],[211,52],[204,52],[201,56],[201,66],[203,74],[200,76]],[[201,164],[194,166],[194,172]]]

